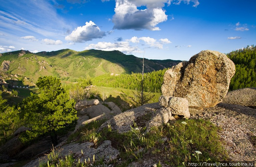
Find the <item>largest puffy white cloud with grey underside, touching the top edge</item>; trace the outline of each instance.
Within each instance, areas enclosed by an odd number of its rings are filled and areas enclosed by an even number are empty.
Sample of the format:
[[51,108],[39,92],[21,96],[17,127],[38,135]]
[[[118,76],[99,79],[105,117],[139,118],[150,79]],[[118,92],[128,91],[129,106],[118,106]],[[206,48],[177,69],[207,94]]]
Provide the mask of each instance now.
[[[193,2],[194,7],[199,5],[198,0],[116,0],[115,14],[112,18],[113,28],[160,30],[157,25],[167,21],[167,15],[163,9],[165,4],[179,5],[182,1],[186,4]],[[141,6],[146,6],[146,9],[137,8]]]

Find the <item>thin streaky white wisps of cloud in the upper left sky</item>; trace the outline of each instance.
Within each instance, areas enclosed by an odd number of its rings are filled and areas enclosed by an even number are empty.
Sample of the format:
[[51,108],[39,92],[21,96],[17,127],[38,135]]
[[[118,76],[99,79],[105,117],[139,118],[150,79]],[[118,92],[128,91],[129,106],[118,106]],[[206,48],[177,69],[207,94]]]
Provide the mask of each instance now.
[[[57,14],[56,8],[49,1],[9,0],[1,3],[5,10],[0,11],[0,27],[5,29],[6,34],[15,35],[14,32],[19,32],[22,35],[57,37],[63,33],[63,28],[71,28],[71,24]],[[13,10],[16,8],[29,10]]]

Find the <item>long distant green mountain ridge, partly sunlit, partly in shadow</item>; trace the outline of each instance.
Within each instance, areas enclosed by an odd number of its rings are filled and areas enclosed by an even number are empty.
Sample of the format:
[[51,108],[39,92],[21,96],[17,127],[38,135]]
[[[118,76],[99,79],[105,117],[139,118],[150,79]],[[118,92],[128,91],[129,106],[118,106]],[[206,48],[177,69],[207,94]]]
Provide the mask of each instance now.
[[[3,61],[10,61],[6,74],[30,78],[28,82],[36,81],[38,77],[45,75],[53,75],[66,81],[76,81],[79,78],[96,77],[108,73],[142,72],[142,58],[126,55],[117,50],[91,49],[77,52],[62,49],[38,53],[18,50],[2,53],[0,63],[2,64]],[[179,62],[181,61],[144,59],[144,72],[162,70]]]

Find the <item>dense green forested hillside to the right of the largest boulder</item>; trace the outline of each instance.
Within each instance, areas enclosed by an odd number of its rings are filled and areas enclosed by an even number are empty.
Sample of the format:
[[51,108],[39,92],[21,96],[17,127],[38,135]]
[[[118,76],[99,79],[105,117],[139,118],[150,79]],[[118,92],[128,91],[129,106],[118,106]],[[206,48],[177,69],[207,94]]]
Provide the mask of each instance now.
[[256,87],[256,47],[248,45],[228,53],[227,56],[236,65],[236,73],[230,81],[229,90]]

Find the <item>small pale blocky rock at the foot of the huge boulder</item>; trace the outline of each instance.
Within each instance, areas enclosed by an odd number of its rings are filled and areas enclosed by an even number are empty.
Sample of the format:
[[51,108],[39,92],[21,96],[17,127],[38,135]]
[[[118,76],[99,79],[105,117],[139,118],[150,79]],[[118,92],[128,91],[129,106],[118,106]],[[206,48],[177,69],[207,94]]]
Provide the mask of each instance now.
[[183,115],[184,118],[190,117],[188,110],[188,100],[186,98],[170,97],[168,108],[171,110],[172,114]]

